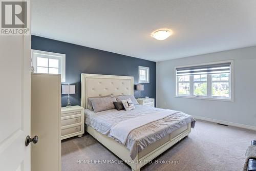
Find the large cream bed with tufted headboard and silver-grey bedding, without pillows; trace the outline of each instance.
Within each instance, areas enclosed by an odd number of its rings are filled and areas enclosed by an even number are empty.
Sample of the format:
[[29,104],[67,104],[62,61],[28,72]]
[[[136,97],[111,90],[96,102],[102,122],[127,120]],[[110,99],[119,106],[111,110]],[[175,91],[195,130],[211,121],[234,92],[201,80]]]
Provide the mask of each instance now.
[[[90,97],[133,95],[133,79],[129,76],[81,74],[81,106],[86,109],[84,110],[86,131],[129,164],[132,170],[139,171],[143,165],[186,137],[190,133],[191,125],[194,126],[195,120],[179,111],[167,111],[142,105],[136,105],[132,111],[113,109],[96,113],[87,109]],[[118,123],[125,125],[125,121],[154,117],[157,114],[168,115],[163,119],[136,127],[126,137],[125,143],[111,134],[113,127]]]

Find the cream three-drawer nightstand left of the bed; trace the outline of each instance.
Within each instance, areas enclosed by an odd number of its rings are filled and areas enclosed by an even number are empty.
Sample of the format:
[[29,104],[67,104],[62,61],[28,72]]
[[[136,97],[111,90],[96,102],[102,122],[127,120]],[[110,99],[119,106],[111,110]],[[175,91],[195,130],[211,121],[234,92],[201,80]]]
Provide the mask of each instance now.
[[84,109],[75,105],[61,108],[61,140],[84,134]]

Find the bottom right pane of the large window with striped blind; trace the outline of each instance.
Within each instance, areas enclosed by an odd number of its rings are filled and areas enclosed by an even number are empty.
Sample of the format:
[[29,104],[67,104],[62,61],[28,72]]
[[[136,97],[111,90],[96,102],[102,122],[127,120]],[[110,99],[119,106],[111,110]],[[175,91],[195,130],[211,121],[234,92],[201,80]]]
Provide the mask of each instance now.
[[228,82],[213,82],[212,96],[229,97],[229,83]]

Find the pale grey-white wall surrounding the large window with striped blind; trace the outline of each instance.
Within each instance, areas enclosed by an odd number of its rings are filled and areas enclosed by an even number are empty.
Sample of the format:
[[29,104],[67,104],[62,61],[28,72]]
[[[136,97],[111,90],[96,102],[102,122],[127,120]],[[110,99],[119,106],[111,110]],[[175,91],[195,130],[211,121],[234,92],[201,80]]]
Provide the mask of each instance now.
[[[234,59],[234,102],[177,98],[175,67]],[[256,126],[256,46],[157,62],[157,107]]]

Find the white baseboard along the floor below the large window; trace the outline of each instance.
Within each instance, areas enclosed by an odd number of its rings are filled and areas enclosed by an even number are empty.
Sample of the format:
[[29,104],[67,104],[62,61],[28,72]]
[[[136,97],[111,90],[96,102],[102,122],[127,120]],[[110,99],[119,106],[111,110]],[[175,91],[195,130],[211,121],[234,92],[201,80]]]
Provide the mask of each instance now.
[[199,119],[199,120],[205,120],[205,121],[209,121],[209,122],[221,123],[221,124],[225,124],[225,125],[229,125],[229,126],[236,126],[236,127],[241,127],[243,129],[248,129],[248,130],[256,131],[256,127],[255,126],[244,125],[244,124],[240,124],[240,123],[227,122],[227,121],[211,119],[211,118],[205,118],[205,117],[202,117],[202,116],[193,116],[193,117],[195,119]]

